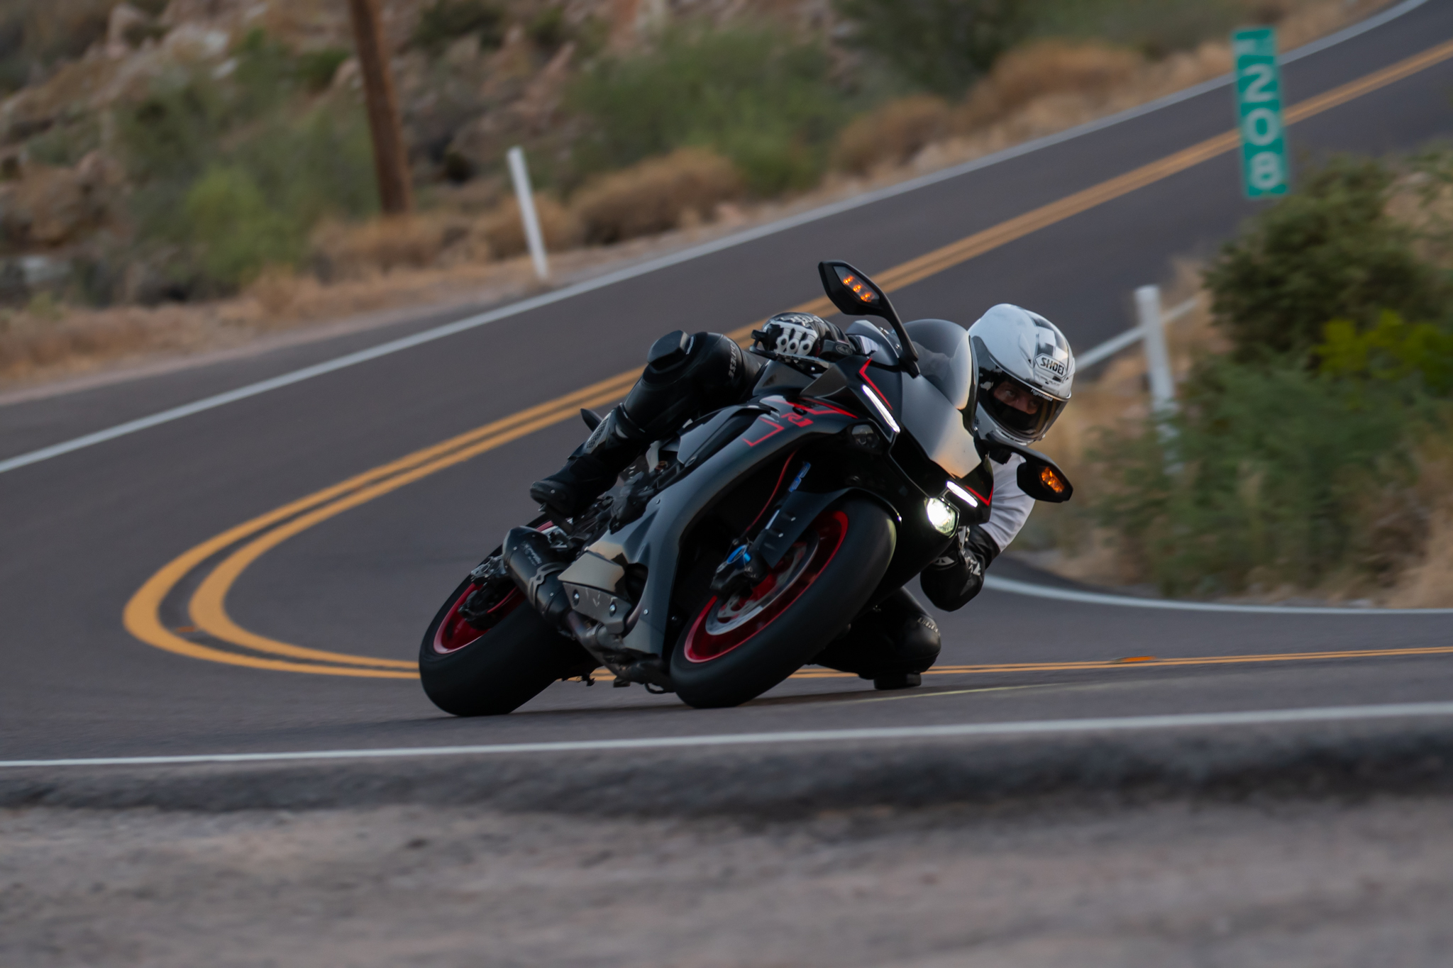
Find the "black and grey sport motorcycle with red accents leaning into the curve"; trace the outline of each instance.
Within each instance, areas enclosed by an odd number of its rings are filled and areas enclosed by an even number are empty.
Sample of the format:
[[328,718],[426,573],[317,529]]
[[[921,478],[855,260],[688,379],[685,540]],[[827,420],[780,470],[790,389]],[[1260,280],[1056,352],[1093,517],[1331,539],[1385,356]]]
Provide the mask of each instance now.
[[[987,454],[1019,453],[1036,501],[1072,486],[1046,456],[966,425],[972,345],[946,319],[904,324],[883,290],[819,263],[857,319],[817,357],[769,358],[753,399],[649,446],[574,520],[513,528],[449,595],[418,652],[455,715],[510,713],[556,679],[740,705],[785,681],[853,618],[988,520]],[[594,430],[599,417],[581,412]]]

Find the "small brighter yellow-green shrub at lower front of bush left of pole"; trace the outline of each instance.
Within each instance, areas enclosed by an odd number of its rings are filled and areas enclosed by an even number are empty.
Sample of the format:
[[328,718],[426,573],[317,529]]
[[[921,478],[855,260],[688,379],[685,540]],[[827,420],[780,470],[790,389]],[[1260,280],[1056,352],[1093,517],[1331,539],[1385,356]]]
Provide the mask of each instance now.
[[183,213],[196,258],[218,284],[243,286],[266,266],[302,254],[298,222],[269,206],[243,168],[211,168],[187,192]]

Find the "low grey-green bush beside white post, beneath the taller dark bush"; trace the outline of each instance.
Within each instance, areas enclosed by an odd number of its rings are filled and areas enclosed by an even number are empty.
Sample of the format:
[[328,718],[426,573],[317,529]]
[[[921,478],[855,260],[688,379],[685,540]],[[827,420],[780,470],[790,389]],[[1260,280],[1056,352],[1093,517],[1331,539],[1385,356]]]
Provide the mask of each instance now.
[[1370,496],[1411,479],[1417,409],[1388,386],[1218,358],[1174,437],[1103,435],[1093,512],[1167,595],[1311,588],[1366,566]]

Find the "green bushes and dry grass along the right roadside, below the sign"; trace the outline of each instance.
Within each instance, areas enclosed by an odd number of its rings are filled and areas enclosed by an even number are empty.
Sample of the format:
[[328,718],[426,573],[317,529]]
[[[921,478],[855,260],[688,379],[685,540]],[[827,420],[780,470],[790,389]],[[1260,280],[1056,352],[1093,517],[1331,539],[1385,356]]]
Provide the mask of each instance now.
[[1168,595],[1450,604],[1450,242],[1449,151],[1308,171],[1205,268],[1178,412],[1081,425],[1042,527]]

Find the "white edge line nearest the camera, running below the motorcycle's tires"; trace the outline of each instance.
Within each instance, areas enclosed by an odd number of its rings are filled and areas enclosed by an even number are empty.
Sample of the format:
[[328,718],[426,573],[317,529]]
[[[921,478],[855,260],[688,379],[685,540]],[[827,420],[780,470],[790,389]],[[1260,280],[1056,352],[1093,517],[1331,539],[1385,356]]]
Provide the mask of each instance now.
[[620,740],[564,740],[555,743],[493,743],[488,746],[416,746],[395,749],[333,749],[289,753],[202,753],[195,756],[96,756],[84,759],[10,759],[0,768],[22,766],[179,766],[189,763],[269,763],[318,759],[420,759],[426,756],[488,756],[500,753],[581,753],[638,749],[692,749],[703,746],[767,746],[779,743],[840,743],[850,740],[953,739],[979,736],[1077,734],[1132,730],[1167,730],[1205,726],[1271,726],[1408,717],[1453,715],[1453,702],[1399,702],[1386,705],[1328,705],[1302,710],[1247,713],[1183,713],[1175,715],[1117,715],[1081,720],[1026,720],[1017,723],[959,723],[953,726],[889,726],[857,730],[796,730],[786,733],[722,733],[715,736],[652,736]]

